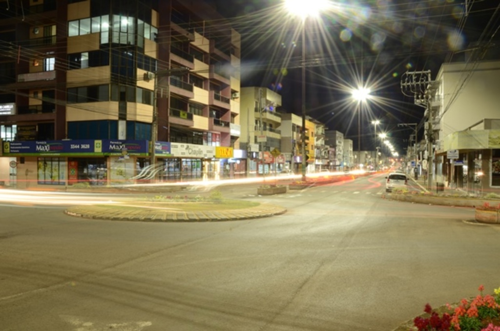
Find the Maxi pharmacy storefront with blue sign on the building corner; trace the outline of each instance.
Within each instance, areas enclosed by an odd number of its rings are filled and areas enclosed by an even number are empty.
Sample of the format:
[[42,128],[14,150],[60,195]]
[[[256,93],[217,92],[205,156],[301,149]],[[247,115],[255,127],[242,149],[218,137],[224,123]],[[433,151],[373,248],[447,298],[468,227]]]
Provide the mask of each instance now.
[[15,158],[16,186],[132,183],[147,164],[147,140],[5,141],[2,156]]

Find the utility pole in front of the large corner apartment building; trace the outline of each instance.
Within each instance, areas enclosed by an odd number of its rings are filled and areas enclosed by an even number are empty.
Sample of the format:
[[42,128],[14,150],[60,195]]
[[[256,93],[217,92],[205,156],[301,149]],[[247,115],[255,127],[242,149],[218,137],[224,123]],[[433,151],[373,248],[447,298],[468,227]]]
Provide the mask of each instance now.
[[[152,123],[151,123],[151,164],[155,165],[156,164],[156,140],[158,138],[158,78],[161,77],[169,77],[169,76],[178,76],[178,75],[183,75],[184,73],[189,72],[188,68],[171,68],[171,69],[162,69],[162,70],[156,70],[153,72],[154,75],[154,87],[153,87],[153,118],[152,118]],[[144,80],[148,81],[150,80],[150,72],[144,73]],[[168,95],[169,93],[169,86],[170,82],[167,83],[166,87],[166,94]],[[161,96],[163,96],[163,93],[161,93]],[[169,107],[167,108],[167,110]],[[168,125],[170,127],[170,125]],[[168,140],[170,140],[170,129],[168,129]],[[153,171],[154,171],[154,176],[153,176],[153,182],[156,181],[156,168],[153,166]]]

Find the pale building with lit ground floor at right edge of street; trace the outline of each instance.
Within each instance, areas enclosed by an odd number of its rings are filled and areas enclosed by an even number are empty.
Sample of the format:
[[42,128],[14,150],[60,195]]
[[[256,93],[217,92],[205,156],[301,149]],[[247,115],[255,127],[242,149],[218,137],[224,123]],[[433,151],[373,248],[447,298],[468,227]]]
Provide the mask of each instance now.
[[441,66],[427,127],[433,132],[437,182],[470,193],[500,191],[498,70],[499,60]]

